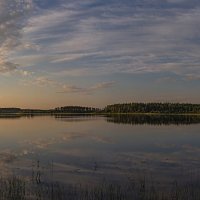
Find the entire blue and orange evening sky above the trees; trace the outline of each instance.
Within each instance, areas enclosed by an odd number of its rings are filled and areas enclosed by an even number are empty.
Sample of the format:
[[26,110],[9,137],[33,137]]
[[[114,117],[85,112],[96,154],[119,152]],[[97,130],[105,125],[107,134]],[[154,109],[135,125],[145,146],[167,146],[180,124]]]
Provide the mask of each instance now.
[[200,103],[199,0],[0,0],[0,107]]

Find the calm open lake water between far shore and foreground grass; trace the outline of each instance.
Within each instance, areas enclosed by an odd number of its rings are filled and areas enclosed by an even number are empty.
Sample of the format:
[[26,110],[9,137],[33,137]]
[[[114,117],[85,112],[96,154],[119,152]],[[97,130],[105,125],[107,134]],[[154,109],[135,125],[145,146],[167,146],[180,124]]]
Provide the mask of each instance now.
[[144,174],[163,183],[180,179],[200,167],[200,123],[180,120],[2,117],[1,175],[31,176],[39,160],[44,178],[49,173],[60,182],[123,182]]

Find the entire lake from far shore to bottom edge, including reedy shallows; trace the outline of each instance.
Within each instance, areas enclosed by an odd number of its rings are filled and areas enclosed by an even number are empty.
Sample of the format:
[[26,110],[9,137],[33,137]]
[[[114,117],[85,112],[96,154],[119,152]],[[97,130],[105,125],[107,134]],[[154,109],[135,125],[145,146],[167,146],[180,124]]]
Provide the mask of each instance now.
[[0,127],[1,199],[200,199],[197,116],[3,117]]

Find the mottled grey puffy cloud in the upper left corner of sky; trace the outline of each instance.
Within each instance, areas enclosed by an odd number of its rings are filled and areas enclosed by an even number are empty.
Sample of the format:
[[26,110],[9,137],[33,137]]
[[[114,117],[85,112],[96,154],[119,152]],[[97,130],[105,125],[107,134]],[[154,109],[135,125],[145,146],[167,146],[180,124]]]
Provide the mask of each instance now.
[[0,1],[0,73],[13,71],[18,64],[9,61],[9,54],[21,45],[21,18],[32,9],[31,0]]

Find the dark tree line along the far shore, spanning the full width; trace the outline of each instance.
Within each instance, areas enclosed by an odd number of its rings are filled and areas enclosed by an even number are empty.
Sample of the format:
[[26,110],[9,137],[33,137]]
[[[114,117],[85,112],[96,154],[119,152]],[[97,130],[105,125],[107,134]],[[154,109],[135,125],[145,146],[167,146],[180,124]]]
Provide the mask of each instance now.
[[54,113],[158,113],[158,114],[200,114],[200,104],[189,103],[122,103],[108,105],[103,109],[86,106],[64,106],[54,109],[0,108],[0,114],[54,114]]

